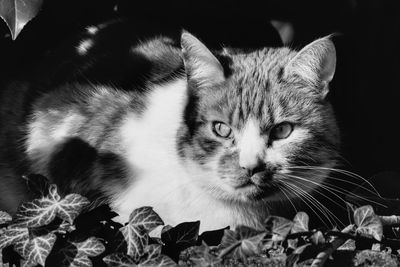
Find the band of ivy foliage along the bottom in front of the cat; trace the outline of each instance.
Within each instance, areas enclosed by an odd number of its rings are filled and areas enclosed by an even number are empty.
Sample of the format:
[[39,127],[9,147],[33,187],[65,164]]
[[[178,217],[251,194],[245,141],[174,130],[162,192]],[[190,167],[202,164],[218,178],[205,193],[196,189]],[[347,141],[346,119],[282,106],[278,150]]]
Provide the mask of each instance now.
[[200,221],[164,225],[151,207],[132,211],[121,225],[106,205],[90,209],[85,197],[61,197],[44,177],[25,179],[37,198],[14,216],[0,211],[4,266],[339,266],[343,255],[353,266],[399,264],[400,241],[385,238],[382,223],[399,218],[378,216],[371,206],[354,207],[354,224],[342,231],[310,230],[308,215],[298,212],[293,220],[270,216],[262,230],[199,234]]

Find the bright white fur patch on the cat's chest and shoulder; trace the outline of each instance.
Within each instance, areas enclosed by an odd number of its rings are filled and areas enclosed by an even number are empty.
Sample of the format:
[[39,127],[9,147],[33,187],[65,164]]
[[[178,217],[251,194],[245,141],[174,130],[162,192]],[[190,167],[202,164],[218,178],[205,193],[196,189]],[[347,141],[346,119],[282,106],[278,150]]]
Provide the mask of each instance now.
[[193,177],[177,155],[176,134],[183,119],[186,86],[186,81],[179,80],[154,88],[146,111],[140,116],[129,114],[121,127],[122,147],[132,174],[126,190],[116,193],[112,201],[121,222],[141,206],[153,207],[170,225],[201,219],[201,231],[249,220],[236,205],[204,191],[195,180],[207,177]]

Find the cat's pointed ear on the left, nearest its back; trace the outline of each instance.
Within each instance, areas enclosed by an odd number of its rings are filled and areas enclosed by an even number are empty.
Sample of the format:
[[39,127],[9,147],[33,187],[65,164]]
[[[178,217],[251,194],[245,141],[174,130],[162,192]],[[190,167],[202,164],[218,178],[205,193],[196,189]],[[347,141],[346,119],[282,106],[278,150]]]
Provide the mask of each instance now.
[[221,63],[199,39],[183,31],[181,47],[188,79],[198,86],[212,86],[225,80]]

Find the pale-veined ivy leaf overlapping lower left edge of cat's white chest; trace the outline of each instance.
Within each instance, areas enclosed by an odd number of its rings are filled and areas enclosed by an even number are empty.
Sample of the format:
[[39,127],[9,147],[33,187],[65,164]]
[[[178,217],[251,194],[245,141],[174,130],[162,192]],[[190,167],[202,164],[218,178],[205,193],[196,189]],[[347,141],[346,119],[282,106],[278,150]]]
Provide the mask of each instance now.
[[135,209],[127,225],[120,229],[127,243],[127,254],[138,260],[148,244],[148,233],[164,222],[151,207]]

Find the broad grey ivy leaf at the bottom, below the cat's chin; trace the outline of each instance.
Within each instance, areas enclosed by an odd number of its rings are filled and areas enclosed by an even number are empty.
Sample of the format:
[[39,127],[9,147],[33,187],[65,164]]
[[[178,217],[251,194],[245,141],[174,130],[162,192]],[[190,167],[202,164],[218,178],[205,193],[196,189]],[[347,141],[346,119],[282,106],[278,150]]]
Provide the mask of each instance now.
[[234,259],[242,259],[246,262],[248,256],[260,253],[261,241],[266,233],[246,226],[238,226],[235,231],[225,230],[221,241],[219,257],[223,258],[231,254]]

